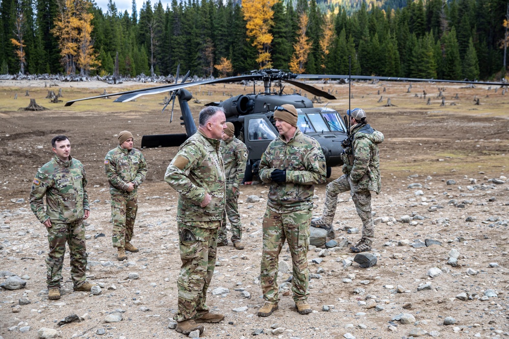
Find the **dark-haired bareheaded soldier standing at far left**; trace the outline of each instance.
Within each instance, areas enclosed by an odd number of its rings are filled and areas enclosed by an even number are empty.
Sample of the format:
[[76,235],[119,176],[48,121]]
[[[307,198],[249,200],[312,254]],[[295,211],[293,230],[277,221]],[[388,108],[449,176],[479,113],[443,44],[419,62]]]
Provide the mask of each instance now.
[[[90,215],[87,175],[83,165],[71,158],[71,143],[66,136],[51,140],[55,157],[38,171],[30,192],[30,207],[48,230],[46,282],[49,299],[60,299],[65,243],[71,253],[71,278],[75,291],[90,291],[86,280],[87,252],[83,219]],[[46,196],[46,209],[44,209]]]

